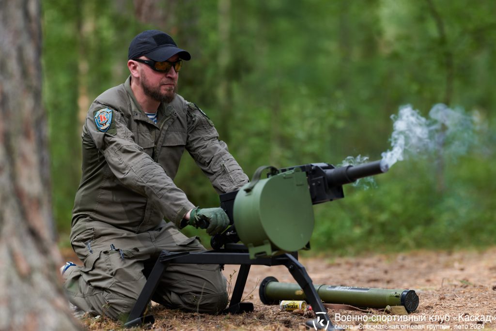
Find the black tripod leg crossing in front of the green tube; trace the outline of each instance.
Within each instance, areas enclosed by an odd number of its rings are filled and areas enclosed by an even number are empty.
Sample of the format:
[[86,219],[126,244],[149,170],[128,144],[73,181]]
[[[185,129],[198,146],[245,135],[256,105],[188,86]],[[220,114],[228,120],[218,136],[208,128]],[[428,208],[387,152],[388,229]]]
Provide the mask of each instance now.
[[317,318],[315,320],[307,321],[307,327],[315,329],[334,330],[334,325],[332,324],[329,315],[327,315],[327,309],[325,309],[324,305],[322,304],[322,300],[320,300],[320,297],[315,290],[315,287],[313,287],[313,283],[309,274],[307,274],[305,267],[300,262],[298,262],[298,260],[295,259],[293,255],[285,255],[288,260],[287,262],[285,262],[284,265],[288,268],[291,276],[295,278],[295,280],[305,292],[307,300],[309,301],[313,311],[317,315]]

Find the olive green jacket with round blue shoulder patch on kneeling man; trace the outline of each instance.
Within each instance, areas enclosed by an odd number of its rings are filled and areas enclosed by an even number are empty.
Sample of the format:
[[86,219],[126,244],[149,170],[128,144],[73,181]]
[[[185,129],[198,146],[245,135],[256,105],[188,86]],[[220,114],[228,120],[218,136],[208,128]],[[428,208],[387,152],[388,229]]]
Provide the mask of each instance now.
[[[248,182],[201,110],[177,95],[160,104],[155,124],[136,102],[130,79],[96,98],[86,116],[72,226],[82,218],[133,232],[152,229],[164,218],[179,226],[194,208],[173,181],[185,149],[218,193]],[[97,125],[102,109],[112,115],[105,131]]]

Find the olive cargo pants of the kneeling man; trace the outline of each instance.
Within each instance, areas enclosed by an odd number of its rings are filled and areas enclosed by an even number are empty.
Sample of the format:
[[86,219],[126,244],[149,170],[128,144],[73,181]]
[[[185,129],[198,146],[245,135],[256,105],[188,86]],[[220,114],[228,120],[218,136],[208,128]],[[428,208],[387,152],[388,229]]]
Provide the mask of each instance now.
[[[200,252],[196,237],[187,238],[172,223],[134,233],[99,221],[80,220],[71,244],[83,267],[69,268],[63,278],[69,301],[94,315],[126,318],[163,249]],[[170,264],[153,301],[170,308],[215,314],[226,308],[226,278],[219,265]]]

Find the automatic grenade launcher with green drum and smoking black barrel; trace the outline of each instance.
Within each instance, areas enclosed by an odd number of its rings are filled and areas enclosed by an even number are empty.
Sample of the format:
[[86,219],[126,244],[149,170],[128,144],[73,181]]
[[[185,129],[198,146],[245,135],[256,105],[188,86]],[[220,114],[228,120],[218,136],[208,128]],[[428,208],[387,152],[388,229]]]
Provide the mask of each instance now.
[[[251,259],[309,248],[312,205],[344,198],[344,184],[388,168],[384,160],[338,168],[327,163],[282,169],[261,166],[250,183],[220,196],[231,226],[213,236],[210,244],[219,249],[241,240]],[[265,169],[267,178],[262,179]]]

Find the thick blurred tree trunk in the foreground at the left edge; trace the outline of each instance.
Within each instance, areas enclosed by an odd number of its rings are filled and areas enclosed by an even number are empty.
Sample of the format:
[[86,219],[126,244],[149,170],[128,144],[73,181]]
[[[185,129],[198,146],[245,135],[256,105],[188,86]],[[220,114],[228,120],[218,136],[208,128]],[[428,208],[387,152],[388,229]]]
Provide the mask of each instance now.
[[74,330],[50,208],[39,2],[0,0],[0,36],[0,330]]

